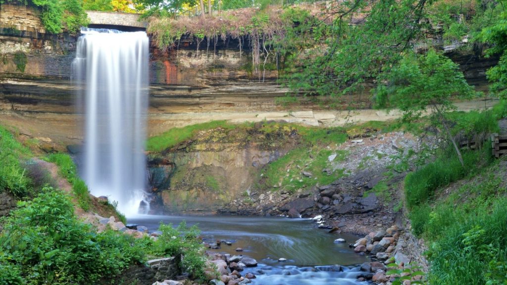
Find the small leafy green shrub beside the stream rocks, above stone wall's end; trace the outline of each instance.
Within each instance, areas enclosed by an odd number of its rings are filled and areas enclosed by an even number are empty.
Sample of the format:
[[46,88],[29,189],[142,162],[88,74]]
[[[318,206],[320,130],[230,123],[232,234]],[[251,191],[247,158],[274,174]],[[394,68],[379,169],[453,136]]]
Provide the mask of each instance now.
[[153,242],[150,251],[157,256],[174,256],[181,258],[181,268],[193,278],[204,281],[205,258],[204,247],[200,243],[199,229],[196,225],[188,227],[183,221],[176,228],[172,224],[160,224],[162,235]]

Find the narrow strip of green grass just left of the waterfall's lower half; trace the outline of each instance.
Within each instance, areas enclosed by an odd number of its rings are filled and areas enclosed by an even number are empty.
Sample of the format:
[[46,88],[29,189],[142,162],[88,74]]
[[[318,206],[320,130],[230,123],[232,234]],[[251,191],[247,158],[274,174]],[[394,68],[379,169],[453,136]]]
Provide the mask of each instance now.
[[72,185],[79,206],[87,211],[90,209],[90,193],[86,183],[79,177],[76,164],[68,154],[57,153],[48,156],[48,161],[58,165],[60,174]]

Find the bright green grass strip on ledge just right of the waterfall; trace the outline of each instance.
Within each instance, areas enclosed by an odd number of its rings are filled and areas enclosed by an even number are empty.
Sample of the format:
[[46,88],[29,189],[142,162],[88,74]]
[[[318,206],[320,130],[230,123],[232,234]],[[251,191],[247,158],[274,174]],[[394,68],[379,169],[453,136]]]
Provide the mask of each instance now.
[[226,121],[211,121],[182,128],[172,128],[160,135],[150,137],[147,142],[147,150],[151,152],[161,152],[176,146],[179,142],[192,138],[197,135],[199,131],[218,127],[232,129],[235,125],[227,123]]

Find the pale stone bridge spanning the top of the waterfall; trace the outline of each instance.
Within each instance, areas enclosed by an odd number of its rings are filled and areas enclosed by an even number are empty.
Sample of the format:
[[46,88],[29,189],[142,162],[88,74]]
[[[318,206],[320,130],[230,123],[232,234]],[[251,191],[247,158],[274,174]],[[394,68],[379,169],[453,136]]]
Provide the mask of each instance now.
[[86,11],[91,28],[110,28],[123,31],[146,30],[148,22],[138,21],[141,14]]

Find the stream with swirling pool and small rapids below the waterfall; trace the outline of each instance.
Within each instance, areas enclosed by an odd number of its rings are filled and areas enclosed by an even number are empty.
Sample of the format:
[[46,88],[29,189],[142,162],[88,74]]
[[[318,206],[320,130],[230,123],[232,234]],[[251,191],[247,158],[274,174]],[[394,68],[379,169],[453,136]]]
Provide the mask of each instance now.
[[[309,220],[237,216],[136,216],[129,223],[148,227],[152,232],[160,222],[177,225],[185,220],[187,225],[197,224],[201,236],[210,242],[232,241],[212,250],[232,255],[242,254],[256,259],[257,267],[245,268],[257,276],[253,284],[367,284],[357,282],[360,274],[354,265],[370,261],[348,247],[357,237],[348,234],[329,234],[317,229]],[[344,238],[346,243],[335,243]],[[235,248],[243,252],[235,252]],[[279,262],[285,258],[287,261]],[[333,271],[333,265],[345,266],[343,271]]]

